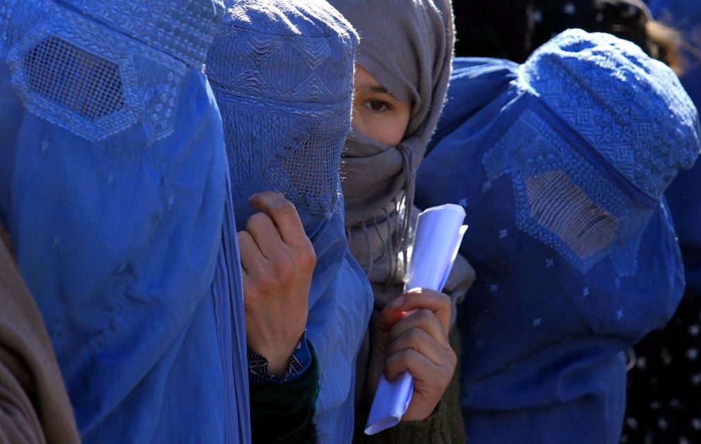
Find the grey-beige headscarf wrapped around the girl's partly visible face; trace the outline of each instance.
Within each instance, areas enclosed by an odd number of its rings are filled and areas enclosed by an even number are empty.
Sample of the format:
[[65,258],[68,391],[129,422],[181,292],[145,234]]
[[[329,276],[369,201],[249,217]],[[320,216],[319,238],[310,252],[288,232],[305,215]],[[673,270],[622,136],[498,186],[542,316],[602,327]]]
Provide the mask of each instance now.
[[[454,30],[449,0],[331,0],[360,34],[356,63],[390,94],[411,103],[397,147],[355,132],[343,152],[343,196],[351,253],[381,308],[402,288],[409,230],[416,221],[414,175],[440,117],[451,73]],[[457,268],[470,283],[474,271]],[[466,289],[466,287],[465,287]],[[464,294],[464,292],[463,292]]]

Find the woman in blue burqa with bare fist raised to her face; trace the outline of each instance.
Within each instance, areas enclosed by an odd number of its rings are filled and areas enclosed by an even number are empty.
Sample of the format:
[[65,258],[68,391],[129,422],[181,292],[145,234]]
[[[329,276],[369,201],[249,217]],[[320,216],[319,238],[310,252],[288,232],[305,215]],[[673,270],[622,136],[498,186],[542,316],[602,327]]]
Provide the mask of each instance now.
[[[224,122],[248,347],[280,370],[253,370],[251,391],[308,377],[314,359],[304,349],[315,351],[323,389],[315,411],[310,395],[311,414],[334,443],[352,437],[355,355],[372,307],[348,252],[339,179],[357,43],[325,1],[238,1],[206,70]],[[275,316],[266,307],[278,307]],[[254,425],[264,423],[252,402]]]

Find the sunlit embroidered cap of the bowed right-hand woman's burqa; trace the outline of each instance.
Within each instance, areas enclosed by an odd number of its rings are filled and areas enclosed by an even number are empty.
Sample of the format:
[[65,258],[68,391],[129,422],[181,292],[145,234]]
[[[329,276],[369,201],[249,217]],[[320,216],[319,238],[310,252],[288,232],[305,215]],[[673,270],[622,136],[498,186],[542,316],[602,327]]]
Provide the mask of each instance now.
[[521,74],[523,83],[653,199],[680,169],[693,165],[701,133],[695,107],[674,72],[633,43],[569,30],[533,53]]

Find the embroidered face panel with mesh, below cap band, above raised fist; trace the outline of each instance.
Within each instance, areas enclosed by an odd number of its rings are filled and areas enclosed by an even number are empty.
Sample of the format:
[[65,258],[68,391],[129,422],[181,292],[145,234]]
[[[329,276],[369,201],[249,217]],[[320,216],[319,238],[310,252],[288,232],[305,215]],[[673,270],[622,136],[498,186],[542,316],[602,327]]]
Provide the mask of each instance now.
[[339,198],[339,163],[351,116],[299,112],[299,107],[244,100],[214,87],[222,113],[234,201],[245,202],[251,180],[264,175],[299,210],[324,214]]

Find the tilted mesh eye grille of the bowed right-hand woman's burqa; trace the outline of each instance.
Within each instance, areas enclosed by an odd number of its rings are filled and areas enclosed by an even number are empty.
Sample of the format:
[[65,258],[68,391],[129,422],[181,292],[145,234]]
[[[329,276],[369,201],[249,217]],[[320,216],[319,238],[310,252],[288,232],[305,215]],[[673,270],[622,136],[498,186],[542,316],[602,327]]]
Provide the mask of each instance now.
[[582,260],[611,245],[618,219],[597,205],[562,171],[526,179],[531,216]]

